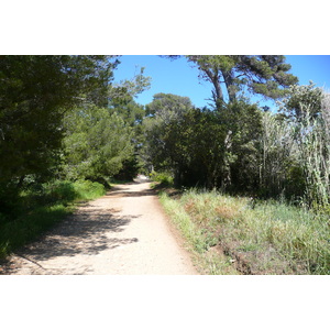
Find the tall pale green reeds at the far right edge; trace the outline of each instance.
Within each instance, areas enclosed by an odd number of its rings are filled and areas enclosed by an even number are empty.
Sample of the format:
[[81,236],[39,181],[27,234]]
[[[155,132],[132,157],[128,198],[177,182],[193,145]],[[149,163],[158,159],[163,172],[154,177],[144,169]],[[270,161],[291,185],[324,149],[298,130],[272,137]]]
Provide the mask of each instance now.
[[329,94],[312,84],[293,86],[279,106],[284,116],[263,116],[261,188],[271,196],[283,193],[326,206],[330,196]]

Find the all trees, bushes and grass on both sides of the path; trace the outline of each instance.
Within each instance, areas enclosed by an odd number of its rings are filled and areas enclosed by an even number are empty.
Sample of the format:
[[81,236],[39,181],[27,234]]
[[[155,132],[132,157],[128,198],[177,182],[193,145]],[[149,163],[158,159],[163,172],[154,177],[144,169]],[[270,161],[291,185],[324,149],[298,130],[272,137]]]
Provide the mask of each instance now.
[[207,273],[329,274],[330,94],[280,55],[185,59],[212,86],[204,108],[136,103],[151,78],[113,84],[120,56],[0,57],[2,255],[141,173],[185,191],[162,200]]

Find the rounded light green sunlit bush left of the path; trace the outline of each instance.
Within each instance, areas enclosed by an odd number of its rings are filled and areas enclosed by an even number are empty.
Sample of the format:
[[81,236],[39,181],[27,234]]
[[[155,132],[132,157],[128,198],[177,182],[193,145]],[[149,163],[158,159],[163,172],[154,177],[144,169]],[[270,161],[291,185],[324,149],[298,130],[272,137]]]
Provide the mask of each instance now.
[[76,109],[64,121],[65,172],[76,179],[117,174],[133,152],[132,129],[109,109]]

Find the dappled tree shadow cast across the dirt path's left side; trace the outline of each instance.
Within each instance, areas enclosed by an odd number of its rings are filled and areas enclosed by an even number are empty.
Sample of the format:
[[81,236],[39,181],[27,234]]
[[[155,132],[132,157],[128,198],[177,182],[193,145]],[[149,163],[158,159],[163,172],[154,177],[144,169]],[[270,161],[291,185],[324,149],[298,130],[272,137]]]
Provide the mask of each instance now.
[[[53,257],[97,255],[103,250],[138,242],[138,238],[117,239],[107,235],[109,232],[123,231],[132,219],[140,217],[116,216],[118,212],[116,209],[86,205],[44,233],[37,241],[19,249],[14,255],[43,268],[38,262]],[[0,274],[15,274],[16,268],[18,266],[8,258],[1,262]]]

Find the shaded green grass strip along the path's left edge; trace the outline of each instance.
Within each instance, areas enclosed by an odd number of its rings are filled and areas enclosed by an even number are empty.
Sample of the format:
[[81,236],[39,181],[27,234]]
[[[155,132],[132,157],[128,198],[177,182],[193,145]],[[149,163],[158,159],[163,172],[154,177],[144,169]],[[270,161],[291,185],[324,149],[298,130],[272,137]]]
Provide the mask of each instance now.
[[58,180],[38,189],[22,191],[15,215],[0,218],[0,258],[62,221],[75,210],[77,201],[95,199],[105,193],[101,184],[88,180]]

